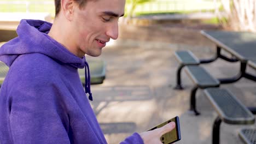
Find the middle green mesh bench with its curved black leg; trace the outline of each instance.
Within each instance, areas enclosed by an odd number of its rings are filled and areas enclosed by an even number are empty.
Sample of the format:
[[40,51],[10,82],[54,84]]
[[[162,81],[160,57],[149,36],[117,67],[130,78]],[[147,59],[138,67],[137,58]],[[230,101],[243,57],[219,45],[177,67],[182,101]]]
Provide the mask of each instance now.
[[195,83],[196,86],[190,93],[190,112],[194,112],[195,115],[200,115],[196,110],[196,91],[198,88],[219,87],[220,83],[217,79],[210,75],[204,68],[199,65],[188,65],[185,67],[185,71]]

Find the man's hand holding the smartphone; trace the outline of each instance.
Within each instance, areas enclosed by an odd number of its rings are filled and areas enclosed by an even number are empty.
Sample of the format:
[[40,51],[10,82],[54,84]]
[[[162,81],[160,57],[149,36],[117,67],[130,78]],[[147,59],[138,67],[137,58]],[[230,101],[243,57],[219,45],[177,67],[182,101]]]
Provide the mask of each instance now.
[[168,133],[169,131],[171,131],[174,128],[175,128],[175,123],[170,122],[170,123],[164,125],[164,127],[150,130],[150,131],[144,131],[143,133],[141,133],[139,135],[141,135],[144,143],[146,143],[146,144],[150,144],[150,143],[162,144],[162,142],[160,141],[160,137],[162,135]]

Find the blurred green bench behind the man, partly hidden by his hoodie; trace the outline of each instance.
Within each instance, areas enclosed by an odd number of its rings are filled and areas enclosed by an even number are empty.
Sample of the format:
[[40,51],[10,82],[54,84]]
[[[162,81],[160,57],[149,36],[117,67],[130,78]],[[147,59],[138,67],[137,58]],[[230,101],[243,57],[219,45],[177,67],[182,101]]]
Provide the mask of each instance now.
[[[88,60],[91,75],[91,85],[103,83],[106,75],[106,63],[102,60]],[[0,87],[7,75],[9,67],[3,62],[0,62]],[[78,69],[80,80],[83,85],[85,84],[85,73],[84,69]]]

